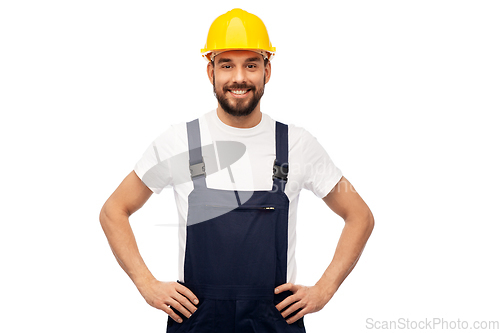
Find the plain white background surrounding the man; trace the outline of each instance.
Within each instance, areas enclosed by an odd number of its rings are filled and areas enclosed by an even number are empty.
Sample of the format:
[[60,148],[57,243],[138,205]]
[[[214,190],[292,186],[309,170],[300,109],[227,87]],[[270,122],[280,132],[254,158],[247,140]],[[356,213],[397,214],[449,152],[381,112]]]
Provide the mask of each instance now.
[[[262,110],[316,136],[375,216],[307,331],[500,320],[497,1],[2,1],[0,331],[164,332],[98,215],[158,134],[216,106],[199,51],[234,7],[277,48]],[[176,219],[172,190],[131,218],[161,280],[177,229],[156,225]],[[311,285],[343,221],[307,191],[298,219]]]

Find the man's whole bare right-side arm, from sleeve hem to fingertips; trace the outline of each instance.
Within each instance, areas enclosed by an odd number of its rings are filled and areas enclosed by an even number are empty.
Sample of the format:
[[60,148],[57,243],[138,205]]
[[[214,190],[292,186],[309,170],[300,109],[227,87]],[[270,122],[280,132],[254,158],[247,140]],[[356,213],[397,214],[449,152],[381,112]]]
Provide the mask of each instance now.
[[279,311],[295,302],[282,312],[283,317],[301,309],[288,320],[289,323],[297,321],[307,313],[321,310],[328,303],[358,262],[375,224],[370,209],[344,177],[323,201],[344,219],[345,226],[333,260],[316,285],[305,287],[286,283],[278,286],[276,293],[285,290],[293,292],[293,295],[276,306]]

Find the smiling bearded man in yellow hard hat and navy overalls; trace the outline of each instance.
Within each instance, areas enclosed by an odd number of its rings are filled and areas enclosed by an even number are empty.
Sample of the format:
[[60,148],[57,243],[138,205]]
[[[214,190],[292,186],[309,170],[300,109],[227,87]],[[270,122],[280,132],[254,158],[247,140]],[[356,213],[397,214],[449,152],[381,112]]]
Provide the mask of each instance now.
[[[102,208],[114,255],[169,315],[167,332],[305,332],[304,315],[332,298],[373,229],[369,208],[316,139],[261,112],[274,52],[257,16],[234,9],[218,17],[202,50],[217,109],[160,135]],[[154,278],[128,221],[164,187],[174,188],[179,211],[177,282]],[[311,287],[295,284],[302,188],[345,220]]]

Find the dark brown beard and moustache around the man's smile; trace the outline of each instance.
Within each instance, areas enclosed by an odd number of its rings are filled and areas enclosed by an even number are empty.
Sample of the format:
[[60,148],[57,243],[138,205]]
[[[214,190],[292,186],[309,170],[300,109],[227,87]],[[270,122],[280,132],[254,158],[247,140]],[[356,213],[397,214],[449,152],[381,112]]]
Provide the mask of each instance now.
[[[260,99],[264,95],[264,88],[266,85],[265,81],[266,79],[264,78],[264,85],[262,86],[262,89],[257,89],[254,85],[247,85],[247,84],[235,83],[232,85],[224,85],[222,87],[222,93],[219,94],[215,89],[215,75],[214,75],[213,78],[214,95],[217,98],[219,105],[226,113],[235,117],[248,116],[249,114],[252,113],[253,110],[255,110],[255,107],[257,107],[257,105],[260,102]],[[229,90],[239,90],[239,89],[250,90],[248,94],[251,94],[251,96],[245,99],[234,98],[233,99],[234,103],[231,103],[229,98],[226,97],[226,93]]]

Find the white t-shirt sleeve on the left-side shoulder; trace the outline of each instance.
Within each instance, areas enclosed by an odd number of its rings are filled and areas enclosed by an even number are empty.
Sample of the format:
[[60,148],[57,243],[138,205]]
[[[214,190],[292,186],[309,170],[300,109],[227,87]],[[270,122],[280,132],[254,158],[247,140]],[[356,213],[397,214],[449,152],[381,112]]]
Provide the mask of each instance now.
[[175,129],[171,126],[159,135],[144,151],[134,166],[142,182],[154,193],[173,186],[170,159],[175,151]]

